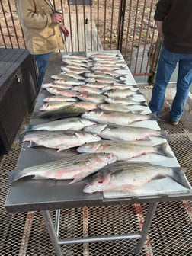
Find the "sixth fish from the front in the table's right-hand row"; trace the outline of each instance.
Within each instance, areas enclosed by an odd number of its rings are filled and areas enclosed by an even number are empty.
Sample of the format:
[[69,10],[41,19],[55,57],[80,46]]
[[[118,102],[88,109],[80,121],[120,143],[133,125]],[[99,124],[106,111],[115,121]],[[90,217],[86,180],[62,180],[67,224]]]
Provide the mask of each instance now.
[[146,101],[134,101],[133,98],[122,98],[122,97],[115,97],[115,98],[110,98],[107,97],[105,98],[105,101],[107,103],[112,103],[112,104],[120,104],[120,105],[141,105],[141,106],[147,106]]

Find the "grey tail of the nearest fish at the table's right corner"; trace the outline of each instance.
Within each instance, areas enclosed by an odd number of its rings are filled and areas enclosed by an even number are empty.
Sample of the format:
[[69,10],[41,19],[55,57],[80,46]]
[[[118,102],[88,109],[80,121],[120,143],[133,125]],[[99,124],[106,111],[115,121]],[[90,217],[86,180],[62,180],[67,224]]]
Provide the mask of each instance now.
[[190,188],[190,184],[187,183],[187,179],[184,177],[184,172],[186,171],[186,169],[187,168],[183,168],[183,167],[169,168],[169,170],[172,171],[172,174],[170,174],[170,177],[174,181],[177,181],[178,184],[181,184],[184,187]]

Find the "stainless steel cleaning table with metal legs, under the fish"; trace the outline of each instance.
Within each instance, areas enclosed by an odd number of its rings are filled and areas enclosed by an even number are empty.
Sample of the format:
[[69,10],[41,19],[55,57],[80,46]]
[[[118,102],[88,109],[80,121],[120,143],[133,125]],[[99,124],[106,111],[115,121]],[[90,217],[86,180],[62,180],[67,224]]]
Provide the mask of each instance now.
[[[119,53],[119,51],[111,51],[112,53]],[[87,53],[73,53],[86,56]],[[62,53],[53,53],[50,59],[50,65],[46,72],[44,82],[51,82],[50,75],[59,74],[60,66],[62,66]],[[130,84],[136,84],[131,75],[129,69],[127,69],[129,75]],[[39,107],[43,104],[43,98],[47,96],[47,92],[41,89],[37,98],[37,104],[34,108],[34,114],[37,113]],[[32,117],[30,123],[40,123],[42,120],[37,120]],[[156,122],[155,122],[156,123]],[[38,165],[45,162],[50,162],[69,155],[75,155],[77,152],[75,149],[67,150],[63,152],[55,152],[53,149],[46,149],[43,147],[28,148],[28,143],[24,142],[24,146],[21,150],[20,158],[18,159],[17,169],[22,169],[27,166]],[[171,165],[178,166],[177,159],[174,158]],[[188,184],[187,178],[185,184]],[[150,224],[155,214],[158,202],[166,202],[171,200],[190,200],[192,198],[192,192],[190,184],[188,188],[177,189],[177,186],[173,186],[174,189],[170,191],[159,190],[158,193],[150,194],[85,194],[83,187],[87,183],[88,179],[79,181],[75,184],[69,184],[69,181],[52,181],[52,180],[33,180],[31,178],[22,178],[19,181],[15,181],[11,184],[8,191],[7,200],[5,202],[5,208],[8,213],[18,213],[27,211],[41,211],[43,219],[46,223],[50,238],[53,242],[53,246],[57,256],[62,256],[61,245],[82,243],[82,242],[100,242],[117,239],[138,239],[136,245],[136,254],[142,249],[142,245],[146,240]],[[169,181],[167,181],[169,182]],[[174,181],[173,181],[174,182]],[[154,186],[155,187],[155,186]],[[84,206],[108,206],[117,204],[133,204],[133,203],[148,203],[149,207],[146,213],[144,225],[142,231],[138,233],[130,233],[126,235],[106,235],[102,237],[85,237],[85,238],[71,238],[65,240],[59,240],[59,212],[60,209],[75,208]],[[56,210],[56,220],[53,224],[53,219],[50,214],[50,210]]]

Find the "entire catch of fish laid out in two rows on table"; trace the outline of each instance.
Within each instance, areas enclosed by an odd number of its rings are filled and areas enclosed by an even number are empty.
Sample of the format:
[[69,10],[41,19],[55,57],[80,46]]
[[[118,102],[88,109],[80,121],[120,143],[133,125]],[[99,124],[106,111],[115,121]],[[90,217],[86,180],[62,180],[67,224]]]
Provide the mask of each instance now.
[[[20,142],[44,146],[57,152],[76,148],[78,155],[23,170],[11,171],[6,184],[25,176],[65,179],[71,183],[95,174],[85,193],[109,190],[135,190],[154,178],[169,176],[182,184],[184,169],[152,165],[147,155],[173,158],[167,142],[149,146],[149,139],[168,139],[168,131],[140,126],[140,121],[158,120],[142,114],[146,102],[134,85],[126,85],[122,57],[94,54],[90,57],[62,56],[62,73],[52,75],[53,83],[43,88],[50,97],[43,99],[40,118],[50,121],[25,126]],[[134,111],[133,111],[134,109]],[[133,126],[138,123],[138,126]],[[146,141],[144,144],[141,143]],[[146,162],[130,162],[140,155]]]

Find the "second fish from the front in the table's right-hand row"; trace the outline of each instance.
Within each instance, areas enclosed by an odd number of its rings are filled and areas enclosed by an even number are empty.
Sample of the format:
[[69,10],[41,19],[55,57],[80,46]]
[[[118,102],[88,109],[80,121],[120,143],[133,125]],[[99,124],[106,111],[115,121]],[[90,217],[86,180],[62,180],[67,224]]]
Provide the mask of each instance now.
[[79,153],[112,153],[117,157],[118,161],[129,161],[133,158],[138,158],[141,155],[158,154],[168,158],[174,158],[167,151],[167,142],[155,146],[140,146],[129,142],[117,142],[112,140],[102,139],[99,142],[90,142],[79,146]]

